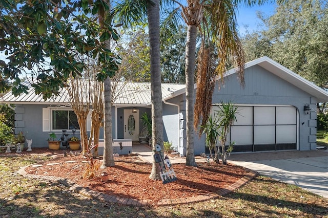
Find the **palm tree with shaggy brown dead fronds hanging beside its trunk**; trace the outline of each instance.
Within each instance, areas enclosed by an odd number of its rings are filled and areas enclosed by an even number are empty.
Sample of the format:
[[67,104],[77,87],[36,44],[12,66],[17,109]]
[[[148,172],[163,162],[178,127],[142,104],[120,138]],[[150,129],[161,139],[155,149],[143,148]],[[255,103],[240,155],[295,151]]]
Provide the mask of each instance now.
[[[206,125],[212,105],[212,92],[214,81],[222,79],[228,63],[233,63],[238,68],[238,77],[241,85],[244,84],[244,55],[236,29],[236,10],[240,3],[248,6],[261,5],[265,2],[261,0],[187,0],[187,6],[173,0],[181,7],[183,20],[188,25],[186,43],[186,123],[187,123],[187,157],[186,165],[197,166],[194,157],[194,128],[198,129],[198,124],[202,120],[202,126]],[[283,0],[278,1],[279,3]],[[198,61],[197,71],[197,91],[196,104],[194,105],[194,76],[195,76],[195,55],[196,55],[196,35],[198,29],[202,35],[200,49],[201,61]],[[217,67],[215,74],[210,72],[209,50],[206,45],[214,45],[217,49]],[[210,76],[209,76],[210,75]],[[206,94],[204,94],[206,93]],[[195,106],[195,110],[194,110]],[[194,112],[195,111],[195,112]],[[194,125],[194,126],[193,126]],[[193,128],[194,127],[194,128]],[[202,129],[201,129],[202,130]],[[202,131],[199,131],[201,135]]]

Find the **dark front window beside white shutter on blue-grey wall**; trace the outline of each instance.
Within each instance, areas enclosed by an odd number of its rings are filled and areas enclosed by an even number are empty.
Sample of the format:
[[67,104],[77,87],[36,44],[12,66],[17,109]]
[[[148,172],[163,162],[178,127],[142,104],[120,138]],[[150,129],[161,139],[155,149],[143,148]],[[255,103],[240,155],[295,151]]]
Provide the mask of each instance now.
[[73,111],[53,109],[51,116],[52,130],[80,129],[76,114]]

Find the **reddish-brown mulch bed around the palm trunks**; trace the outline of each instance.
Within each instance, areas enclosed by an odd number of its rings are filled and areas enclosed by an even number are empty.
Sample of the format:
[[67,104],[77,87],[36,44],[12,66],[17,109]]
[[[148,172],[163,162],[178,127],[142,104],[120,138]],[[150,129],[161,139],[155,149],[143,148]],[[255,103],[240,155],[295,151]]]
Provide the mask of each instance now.
[[[49,150],[48,148],[32,148],[33,151],[24,151],[19,155],[57,155],[56,159],[43,162],[42,167],[28,167],[26,172],[36,175],[56,176],[68,178],[83,187],[92,190],[116,195],[118,197],[139,200],[153,200],[154,203],[161,199],[176,199],[194,197],[203,193],[216,192],[221,188],[232,185],[243,176],[248,169],[232,164],[219,165],[211,162],[197,163],[198,167],[185,164],[173,164],[177,181],[162,184],[162,181],[149,179],[152,165],[142,162],[137,156],[115,157],[115,166],[99,169],[93,179],[83,178],[87,163],[83,156],[64,157],[64,150]],[[75,151],[74,151],[75,152]],[[16,153],[3,155],[17,155]],[[66,163],[66,161],[76,161]],[[229,160],[228,160],[229,162]],[[48,163],[60,163],[47,165]],[[97,160],[97,164],[101,163]],[[101,172],[109,174],[107,182],[101,181]]]

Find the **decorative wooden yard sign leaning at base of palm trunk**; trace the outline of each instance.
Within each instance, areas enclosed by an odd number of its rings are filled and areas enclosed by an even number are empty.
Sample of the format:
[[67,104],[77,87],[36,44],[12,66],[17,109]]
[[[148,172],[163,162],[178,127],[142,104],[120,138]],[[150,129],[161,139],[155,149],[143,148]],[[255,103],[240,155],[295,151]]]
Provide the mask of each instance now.
[[[171,161],[168,156],[165,156],[163,160],[163,151],[159,144],[155,145],[155,154],[154,159],[157,164],[157,167],[159,168],[159,175],[160,179],[162,180],[163,184],[167,184],[170,182],[177,181],[177,178],[175,176],[175,172],[172,168]],[[168,167],[168,169],[166,168]]]

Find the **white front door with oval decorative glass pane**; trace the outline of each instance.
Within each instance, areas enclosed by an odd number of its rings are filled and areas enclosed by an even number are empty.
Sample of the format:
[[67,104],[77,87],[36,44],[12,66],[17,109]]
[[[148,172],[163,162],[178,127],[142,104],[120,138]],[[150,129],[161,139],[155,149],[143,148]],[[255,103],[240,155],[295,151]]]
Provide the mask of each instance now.
[[139,141],[139,110],[124,110],[124,138]]

